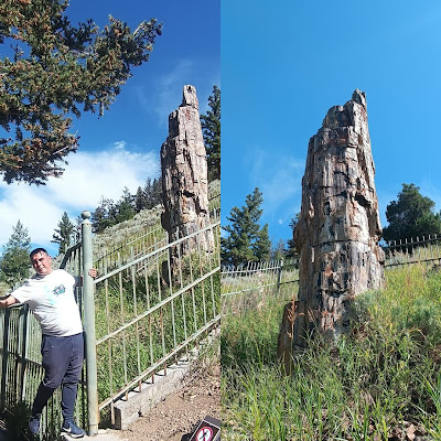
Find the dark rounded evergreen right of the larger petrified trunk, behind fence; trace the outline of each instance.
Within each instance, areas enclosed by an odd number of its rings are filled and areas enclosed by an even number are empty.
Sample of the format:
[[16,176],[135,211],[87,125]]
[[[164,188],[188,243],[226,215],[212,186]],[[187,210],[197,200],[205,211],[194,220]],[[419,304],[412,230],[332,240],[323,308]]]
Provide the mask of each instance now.
[[434,213],[434,202],[422,196],[420,187],[402,184],[398,200],[386,207],[389,225],[383,229],[385,240],[441,234],[441,214]]

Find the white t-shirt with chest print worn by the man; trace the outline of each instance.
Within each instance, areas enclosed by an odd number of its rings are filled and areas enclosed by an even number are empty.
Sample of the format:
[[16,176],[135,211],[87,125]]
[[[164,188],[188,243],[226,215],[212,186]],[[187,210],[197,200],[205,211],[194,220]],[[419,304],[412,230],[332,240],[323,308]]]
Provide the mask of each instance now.
[[51,336],[68,336],[83,332],[79,309],[75,301],[75,278],[64,269],[46,276],[35,275],[11,295],[28,303],[42,333]]

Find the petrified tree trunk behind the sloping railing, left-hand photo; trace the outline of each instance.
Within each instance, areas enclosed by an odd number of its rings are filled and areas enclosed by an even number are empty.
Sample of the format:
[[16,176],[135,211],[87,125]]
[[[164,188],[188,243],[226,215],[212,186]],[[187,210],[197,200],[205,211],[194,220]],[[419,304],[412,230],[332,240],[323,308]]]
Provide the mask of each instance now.
[[[164,206],[161,224],[172,243],[208,223],[207,161],[194,86],[184,86],[181,106],[169,116],[169,136],[161,147],[161,169]],[[179,250],[173,247],[172,268],[178,257],[190,252],[197,243],[201,250],[213,249],[213,234],[208,232],[182,241]]]

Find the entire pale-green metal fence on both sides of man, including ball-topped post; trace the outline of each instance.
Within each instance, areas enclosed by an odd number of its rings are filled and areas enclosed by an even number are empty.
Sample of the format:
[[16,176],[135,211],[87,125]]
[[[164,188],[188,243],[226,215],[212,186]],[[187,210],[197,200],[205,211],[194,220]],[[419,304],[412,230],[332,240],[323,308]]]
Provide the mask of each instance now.
[[[219,325],[220,222],[216,202],[212,206],[211,222],[198,232],[172,244],[153,238],[149,247],[150,239],[142,238],[142,254],[127,244],[95,262],[85,215],[83,241],[66,251],[61,268],[83,278],[75,295],[85,327],[86,369],[76,419],[89,434],[98,431],[99,411],[108,411],[114,422],[117,400],[155,372],[166,374],[168,366]],[[208,249],[201,246],[207,235],[213,237]],[[179,257],[173,262],[171,249]],[[94,266],[99,267],[96,280],[87,276]],[[24,417],[43,376],[41,331],[26,305],[0,311],[0,338],[1,409]],[[56,439],[58,409],[56,392],[43,415],[41,440]]]

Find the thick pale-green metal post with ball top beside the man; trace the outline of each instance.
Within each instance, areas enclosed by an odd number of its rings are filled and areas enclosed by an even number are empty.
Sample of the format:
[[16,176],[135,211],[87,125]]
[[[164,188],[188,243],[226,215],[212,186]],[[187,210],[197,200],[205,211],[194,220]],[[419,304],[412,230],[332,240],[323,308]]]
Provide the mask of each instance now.
[[86,385],[87,385],[87,411],[90,437],[98,433],[99,409],[98,409],[98,376],[95,337],[95,301],[94,280],[88,275],[93,268],[92,256],[92,224],[90,213],[83,212],[83,301],[84,301],[84,334],[86,348]]

